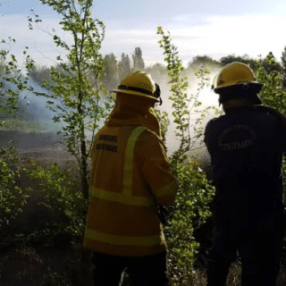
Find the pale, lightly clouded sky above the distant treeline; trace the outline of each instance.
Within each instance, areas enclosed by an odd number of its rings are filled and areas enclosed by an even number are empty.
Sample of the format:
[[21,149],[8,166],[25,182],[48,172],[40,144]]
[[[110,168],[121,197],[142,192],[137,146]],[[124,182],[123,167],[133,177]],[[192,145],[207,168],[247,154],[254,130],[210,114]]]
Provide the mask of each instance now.
[[[13,54],[20,55],[29,46],[37,63],[53,64],[61,51],[44,32],[30,31],[30,8],[43,20],[43,28],[60,30],[60,17],[38,0],[1,1],[1,38],[17,40]],[[97,0],[93,17],[104,21],[105,40],[102,54],[131,55],[140,46],[147,64],[162,62],[156,28],[172,34],[181,59],[188,63],[195,55],[220,59],[225,55],[251,57],[272,51],[280,60],[286,46],[286,1],[284,0]],[[68,35],[64,37],[68,38]]]

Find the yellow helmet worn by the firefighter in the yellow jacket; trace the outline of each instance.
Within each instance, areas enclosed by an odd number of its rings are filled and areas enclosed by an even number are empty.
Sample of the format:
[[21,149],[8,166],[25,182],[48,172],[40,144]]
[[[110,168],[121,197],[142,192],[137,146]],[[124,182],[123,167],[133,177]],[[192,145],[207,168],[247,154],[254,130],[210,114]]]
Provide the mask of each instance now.
[[112,90],[115,93],[149,97],[161,102],[160,88],[152,80],[151,76],[145,71],[130,72],[121,82],[121,84]]

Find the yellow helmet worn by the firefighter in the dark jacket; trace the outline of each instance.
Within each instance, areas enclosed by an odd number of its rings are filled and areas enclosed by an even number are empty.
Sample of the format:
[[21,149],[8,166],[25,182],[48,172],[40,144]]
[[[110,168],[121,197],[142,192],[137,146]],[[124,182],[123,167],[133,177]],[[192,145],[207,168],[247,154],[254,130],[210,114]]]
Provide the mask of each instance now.
[[245,89],[249,85],[259,88],[262,84],[257,82],[254,72],[245,63],[233,62],[225,65],[223,70],[214,78],[214,92],[220,93],[224,88],[238,88],[240,85]]

